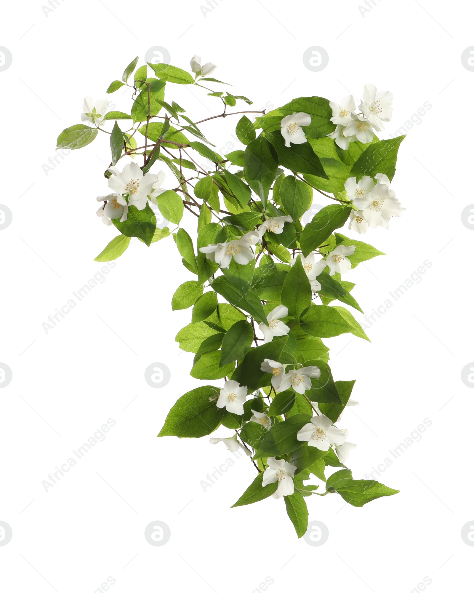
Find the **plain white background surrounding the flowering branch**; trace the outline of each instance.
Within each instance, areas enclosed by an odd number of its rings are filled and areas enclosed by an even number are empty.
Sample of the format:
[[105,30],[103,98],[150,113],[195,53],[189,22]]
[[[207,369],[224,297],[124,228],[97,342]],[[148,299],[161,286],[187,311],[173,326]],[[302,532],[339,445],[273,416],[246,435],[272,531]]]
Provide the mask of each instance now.
[[[2,591],[92,593],[109,590],[100,589],[108,577],[114,593],[466,590],[474,548],[460,531],[474,519],[474,392],[461,371],[474,360],[474,234],[461,212],[474,202],[474,72],[460,58],[474,44],[474,9],[374,0],[362,15],[357,0],[216,4],[205,5],[205,15],[191,0],[57,0],[47,15],[40,1],[4,6],[0,45],[13,62],[0,72],[0,202],[13,221],[0,232],[0,362],[13,379],[0,390],[0,520],[13,537],[0,547]],[[181,68],[194,53],[217,63],[214,76],[255,109],[308,95],[339,101],[348,91],[358,100],[372,82],[395,95],[381,138],[432,105],[399,151],[392,187],[405,216],[364,238],[387,256],[346,279],[357,283],[354,295],[370,314],[425,260],[433,265],[367,329],[371,343],[329,340],[335,378],[357,379],[360,406],[340,423],[358,444],[348,462],[354,477],[384,467],[424,419],[432,425],[380,477],[398,495],[364,508],[336,495],[306,499],[310,521],[328,527],[323,546],[297,540],[282,501],[229,508],[254,479],[246,458],[204,492],[201,480],[230,456],[225,447],[207,437],[156,438],[169,407],[197,384],[188,376],[193,355],[174,342],[190,310],[172,313],[171,297],[191,274],[172,238],[149,249],[134,241],[56,327],[46,333],[41,325],[100,272],[104,264],[93,259],[117,234],[95,216],[95,197],[108,193],[108,137],[59,159],[47,174],[43,164],[55,156],[62,129],[80,123],[84,95],[111,96],[116,109],[130,109],[128,94],[105,90],[153,46],[165,47]],[[303,64],[312,46],[328,52],[321,72]],[[220,113],[205,91],[169,86],[166,99],[195,121]],[[237,121],[202,127],[228,152],[242,148],[232,139]],[[321,198],[315,202],[325,205]],[[162,389],[144,380],[153,362],[171,369]],[[109,418],[116,424],[105,441],[46,492],[48,474]],[[165,546],[145,540],[153,521],[171,530]],[[432,582],[418,588],[425,577]]]

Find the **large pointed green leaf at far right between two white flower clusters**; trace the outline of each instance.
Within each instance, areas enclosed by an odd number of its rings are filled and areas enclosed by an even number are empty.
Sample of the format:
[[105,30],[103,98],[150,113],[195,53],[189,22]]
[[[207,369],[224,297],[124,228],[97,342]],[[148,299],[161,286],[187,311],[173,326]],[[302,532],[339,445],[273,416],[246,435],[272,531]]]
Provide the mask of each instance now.
[[390,140],[380,140],[370,144],[360,155],[349,173],[357,181],[364,175],[375,177],[377,173],[385,173],[392,181],[395,175],[395,164],[399,146],[405,136],[398,136]]

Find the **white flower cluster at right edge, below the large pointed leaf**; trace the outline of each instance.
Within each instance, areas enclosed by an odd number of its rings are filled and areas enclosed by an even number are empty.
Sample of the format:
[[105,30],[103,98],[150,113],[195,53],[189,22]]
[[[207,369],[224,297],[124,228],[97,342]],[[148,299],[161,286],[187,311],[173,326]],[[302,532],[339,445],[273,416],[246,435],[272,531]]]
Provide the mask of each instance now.
[[357,208],[350,213],[349,228],[360,234],[369,227],[387,228],[392,216],[402,215],[402,205],[390,189],[389,178],[383,173],[375,178],[376,182],[364,175],[357,183],[355,177],[349,177],[344,184],[347,197]]

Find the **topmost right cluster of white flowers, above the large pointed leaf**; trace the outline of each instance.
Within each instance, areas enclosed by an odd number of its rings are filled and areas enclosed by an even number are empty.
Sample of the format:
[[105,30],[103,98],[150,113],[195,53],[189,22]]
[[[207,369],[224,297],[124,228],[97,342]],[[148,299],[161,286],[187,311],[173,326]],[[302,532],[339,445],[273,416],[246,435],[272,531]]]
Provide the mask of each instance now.
[[362,113],[355,113],[352,95],[344,97],[339,103],[329,103],[332,109],[331,122],[336,124],[334,132],[328,134],[336,144],[347,150],[350,142],[358,140],[367,144],[374,139],[374,129],[382,132],[383,122],[392,119],[393,95],[389,91],[377,93],[373,84],[366,84],[364,98],[359,105]]

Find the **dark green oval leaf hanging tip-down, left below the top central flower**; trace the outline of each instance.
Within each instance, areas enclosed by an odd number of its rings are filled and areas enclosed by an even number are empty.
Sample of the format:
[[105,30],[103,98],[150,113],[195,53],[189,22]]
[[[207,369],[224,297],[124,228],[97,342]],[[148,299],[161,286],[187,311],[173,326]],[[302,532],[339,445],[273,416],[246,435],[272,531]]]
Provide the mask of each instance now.
[[245,149],[244,175],[249,186],[267,203],[268,192],[276,177],[278,157],[273,146],[263,135],[258,136]]

